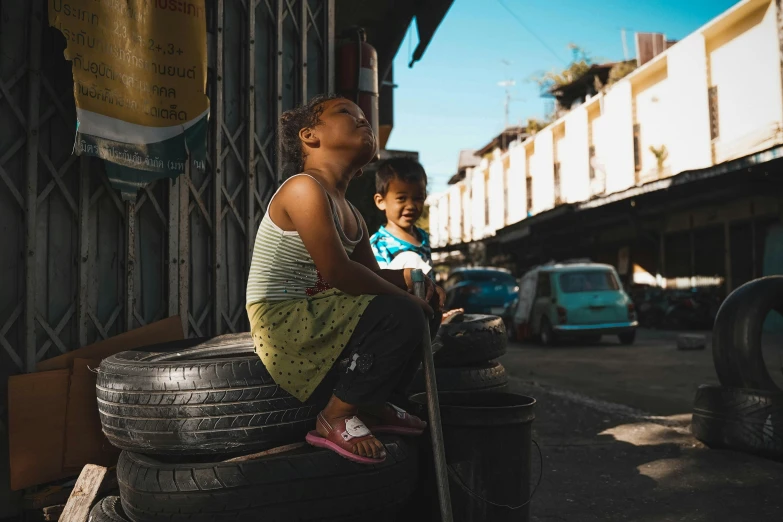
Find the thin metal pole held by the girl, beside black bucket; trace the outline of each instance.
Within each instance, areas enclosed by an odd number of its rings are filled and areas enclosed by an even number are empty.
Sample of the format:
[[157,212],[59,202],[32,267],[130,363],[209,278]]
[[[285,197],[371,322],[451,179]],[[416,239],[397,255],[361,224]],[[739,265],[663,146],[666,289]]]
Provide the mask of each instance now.
[[[425,299],[426,286],[424,272],[419,269],[411,271],[413,292],[419,299]],[[452,522],[451,494],[449,492],[449,475],[446,464],[446,453],[443,447],[443,428],[440,423],[440,401],[438,400],[438,384],[435,379],[435,361],[432,359],[432,343],[430,340],[430,325],[424,322],[424,383],[427,391],[427,413],[430,418],[430,435],[432,436],[432,454],[435,459],[435,478],[438,485],[438,501],[440,503],[441,522]]]

